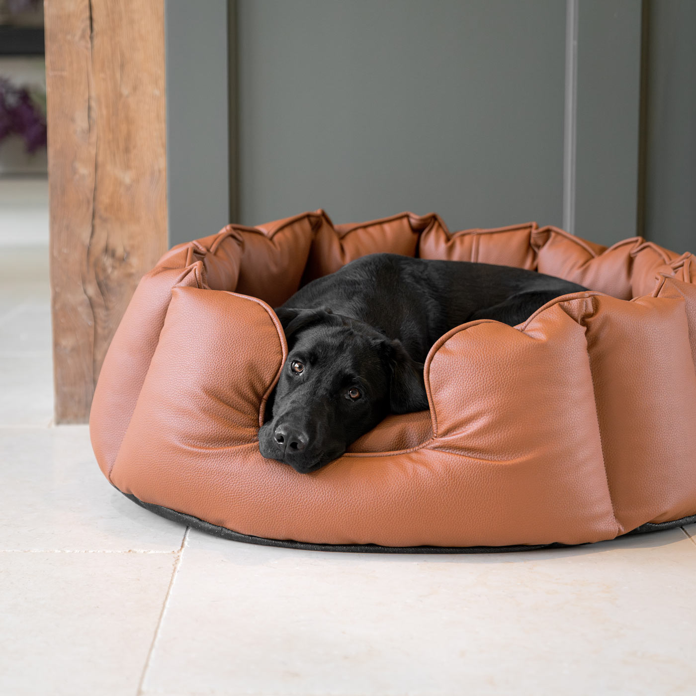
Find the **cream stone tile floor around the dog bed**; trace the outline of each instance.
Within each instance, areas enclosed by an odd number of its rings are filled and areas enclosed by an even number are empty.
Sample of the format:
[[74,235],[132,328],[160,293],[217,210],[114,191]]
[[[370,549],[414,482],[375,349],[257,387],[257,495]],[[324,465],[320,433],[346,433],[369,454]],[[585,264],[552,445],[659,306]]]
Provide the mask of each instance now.
[[2,256],[0,695],[696,694],[696,525],[474,556],[185,530],[52,426],[47,251]]

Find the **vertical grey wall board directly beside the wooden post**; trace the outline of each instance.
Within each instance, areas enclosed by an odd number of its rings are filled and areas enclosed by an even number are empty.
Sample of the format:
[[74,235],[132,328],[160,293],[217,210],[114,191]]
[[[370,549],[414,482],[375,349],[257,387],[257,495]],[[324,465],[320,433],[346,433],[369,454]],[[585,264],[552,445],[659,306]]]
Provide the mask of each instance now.
[[230,221],[228,3],[166,0],[170,245]]

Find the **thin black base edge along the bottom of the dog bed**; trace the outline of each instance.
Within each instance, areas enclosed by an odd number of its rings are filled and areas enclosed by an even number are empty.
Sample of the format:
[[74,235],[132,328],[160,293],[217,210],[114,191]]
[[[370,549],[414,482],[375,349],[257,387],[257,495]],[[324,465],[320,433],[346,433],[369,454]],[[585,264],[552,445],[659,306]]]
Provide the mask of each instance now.
[[[112,484],[113,485],[113,484]],[[116,488],[116,486],[114,486]],[[119,489],[116,489],[119,491]],[[123,493],[123,491],[119,491]],[[303,551],[338,551],[340,553],[512,553],[515,551],[537,551],[539,548],[564,548],[570,546],[586,546],[587,544],[514,544],[512,546],[379,546],[379,544],[309,544],[306,541],[291,541],[289,539],[267,539],[267,537],[254,537],[252,535],[241,534],[226,527],[219,527],[205,520],[198,519],[193,515],[184,512],[177,512],[169,507],[155,505],[154,503],[144,503],[140,498],[132,493],[123,493],[126,498],[132,500],[136,505],[144,507],[150,512],[154,512],[161,517],[165,517],[173,522],[179,522],[198,529],[207,534],[230,539],[231,541],[243,541],[245,544],[258,544],[258,546],[280,546],[281,548],[299,548]],[[678,520],[669,522],[651,523],[647,522],[636,527],[630,532],[625,532],[621,537],[631,534],[644,534],[645,532],[658,532],[661,530],[681,527],[681,525],[696,523],[696,515],[682,517]],[[619,537],[615,537],[618,539]]]

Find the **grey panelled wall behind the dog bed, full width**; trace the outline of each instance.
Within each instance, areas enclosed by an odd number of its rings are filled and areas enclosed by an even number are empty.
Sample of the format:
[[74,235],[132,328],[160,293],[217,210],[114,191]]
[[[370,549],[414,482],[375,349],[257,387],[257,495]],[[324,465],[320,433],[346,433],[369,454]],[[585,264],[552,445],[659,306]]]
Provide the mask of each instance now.
[[696,251],[694,0],[165,10],[172,243],[324,207]]

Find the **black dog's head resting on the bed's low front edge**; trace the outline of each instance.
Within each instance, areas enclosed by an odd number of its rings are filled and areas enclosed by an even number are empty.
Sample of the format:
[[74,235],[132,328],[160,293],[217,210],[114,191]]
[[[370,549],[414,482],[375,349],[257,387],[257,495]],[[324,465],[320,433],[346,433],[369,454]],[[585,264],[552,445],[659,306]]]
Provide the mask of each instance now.
[[309,473],[388,413],[427,409],[423,366],[369,324],[324,309],[276,310],[288,355],[259,430],[261,454]]

